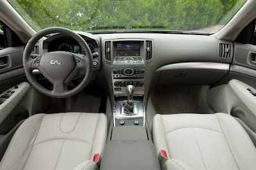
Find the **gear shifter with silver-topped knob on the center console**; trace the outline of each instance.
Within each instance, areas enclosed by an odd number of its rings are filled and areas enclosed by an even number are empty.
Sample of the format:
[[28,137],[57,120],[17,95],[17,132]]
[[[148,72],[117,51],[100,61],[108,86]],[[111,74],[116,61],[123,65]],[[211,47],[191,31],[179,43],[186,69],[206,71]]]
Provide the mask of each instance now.
[[125,103],[124,105],[124,113],[132,114],[134,113],[134,102],[133,102],[134,86],[127,85],[126,92],[127,92],[127,103]]

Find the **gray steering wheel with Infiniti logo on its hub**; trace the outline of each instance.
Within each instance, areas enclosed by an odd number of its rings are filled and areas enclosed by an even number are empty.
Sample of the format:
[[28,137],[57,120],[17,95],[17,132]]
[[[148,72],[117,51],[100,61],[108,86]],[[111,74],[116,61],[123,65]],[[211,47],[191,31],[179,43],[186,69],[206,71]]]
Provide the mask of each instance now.
[[[38,40],[48,34],[61,33],[70,36],[79,43],[86,55],[70,52],[48,52],[31,59],[30,54]],[[29,83],[46,96],[64,98],[77,94],[88,85],[92,78],[93,70],[92,52],[86,41],[76,32],[62,27],[50,27],[37,32],[24,50],[23,67]],[[53,90],[47,90],[33,76],[33,69],[38,69],[53,85]],[[68,90],[68,83],[73,80],[81,69],[85,69],[85,75],[81,83],[72,90]]]

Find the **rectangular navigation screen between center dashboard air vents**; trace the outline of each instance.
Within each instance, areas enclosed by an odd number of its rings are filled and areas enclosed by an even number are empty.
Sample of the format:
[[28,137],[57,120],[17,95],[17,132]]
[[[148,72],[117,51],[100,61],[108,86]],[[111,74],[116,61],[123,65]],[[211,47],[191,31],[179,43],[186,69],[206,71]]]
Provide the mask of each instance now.
[[116,56],[140,56],[140,43],[117,44]]

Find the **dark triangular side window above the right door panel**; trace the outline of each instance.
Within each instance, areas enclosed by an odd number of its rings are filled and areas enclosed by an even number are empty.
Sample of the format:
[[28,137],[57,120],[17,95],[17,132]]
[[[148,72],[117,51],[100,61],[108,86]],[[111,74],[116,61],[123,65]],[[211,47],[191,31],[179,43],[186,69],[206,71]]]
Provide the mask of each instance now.
[[239,36],[236,39],[236,42],[242,44],[252,44],[256,45],[256,34],[255,34],[255,23],[254,19],[250,24],[244,27],[243,31],[240,32]]

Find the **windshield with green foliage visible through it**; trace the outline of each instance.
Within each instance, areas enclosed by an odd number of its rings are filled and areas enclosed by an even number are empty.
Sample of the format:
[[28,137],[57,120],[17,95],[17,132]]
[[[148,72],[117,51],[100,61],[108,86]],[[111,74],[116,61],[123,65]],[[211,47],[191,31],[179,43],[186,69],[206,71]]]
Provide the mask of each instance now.
[[8,0],[40,31],[167,30],[214,33],[246,0]]

